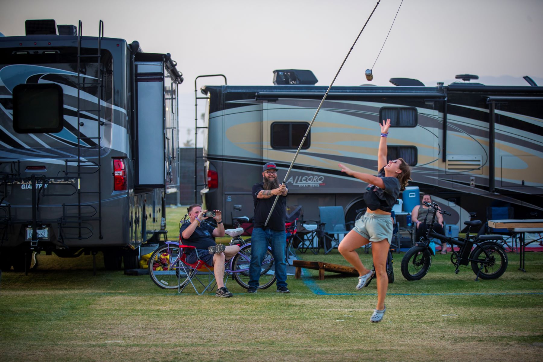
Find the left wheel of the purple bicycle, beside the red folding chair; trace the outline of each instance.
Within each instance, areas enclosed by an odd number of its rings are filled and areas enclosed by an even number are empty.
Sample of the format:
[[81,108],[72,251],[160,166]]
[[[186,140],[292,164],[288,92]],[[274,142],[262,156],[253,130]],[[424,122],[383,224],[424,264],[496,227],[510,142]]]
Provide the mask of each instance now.
[[161,245],[153,252],[149,258],[149,275],[153,283],[162,289],[177,289],[185,285],[187,278],[182,268],[179,283],[180,255],[177,245]]

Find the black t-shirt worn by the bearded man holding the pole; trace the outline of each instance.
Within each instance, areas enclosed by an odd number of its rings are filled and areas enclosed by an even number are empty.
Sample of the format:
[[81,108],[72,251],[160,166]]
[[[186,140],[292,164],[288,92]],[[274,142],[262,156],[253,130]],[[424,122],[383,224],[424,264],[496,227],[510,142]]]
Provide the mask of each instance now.
[[[270,213],[271,206],[277,196],[273,195],[268,199],[258,199],[256,196],[264,189],[264,182],[255,183],[252,186],[252,201],[255,204],[254,227],[263,227]],[[287,196],[280,195],[277,204],[271,213],[268,226],[271,230],[285,230],[285,213],[287,207]]]

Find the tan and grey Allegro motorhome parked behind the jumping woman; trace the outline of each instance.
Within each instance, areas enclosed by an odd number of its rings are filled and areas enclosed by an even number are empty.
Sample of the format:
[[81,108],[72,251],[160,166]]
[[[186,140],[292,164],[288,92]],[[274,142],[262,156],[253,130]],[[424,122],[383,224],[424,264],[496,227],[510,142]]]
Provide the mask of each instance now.
[[[475,78],[459,78],[466,77]],[[318,206],[340,205],[346,220],[353,220],[355,210],[365,206],[366,185],[340,173],[337,165],[376,174],[378,122],[390,118],[389,159],[402,157],[411,164],[409,186],[444,202],[453,214],[447,224],[462,229],[470,213],[484,220],[487,207],[496,205],[510,206],[515,218],[541,217],[543,87],[391,82],[399,86],[331,88],[288,177],[288,205],[302,205],[306,220],[319,219]],[[222,209],[226,223],[250,217],[251,186],[262,181],[261,165],[276,162],[283,180],[326,89],[203,87],[206,207]]]

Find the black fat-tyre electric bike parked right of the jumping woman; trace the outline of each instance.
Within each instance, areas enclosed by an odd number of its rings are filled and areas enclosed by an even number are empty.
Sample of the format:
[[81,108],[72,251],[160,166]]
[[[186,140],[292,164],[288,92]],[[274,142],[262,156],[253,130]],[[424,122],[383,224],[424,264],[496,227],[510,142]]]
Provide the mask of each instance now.
[[[433,204],[424,202],[424,204],[432,209],[432,222],[428,226],[426,234],[403,256],[401,263],[403,277],[409,281],[420,280],[430,270],[432,255],[434,255],[430,247],[431,238],[451,244],[451,263],[455,266],[455,274],[458,274],[460,266],[466,266],[470,263],[471,269],[476,275],[476,281],[479,277],[486,280],[497,279],[506,271],[508,260],[506,251],[502,247],[503,237],[501,235],[470,236],[471,228],[478,230],[481,226],[480,220],[464,221],[464,225],[469,226],[465,238],[450,238],[438,234],[433,231],[435,215],[438,212],[445,215],[450,215],[450,213],[440,209],[435,202]],[[425,224],[427,224],[427,218],[428,214]],[[459,247],[458,251],[454,250],[454,245]],[[475,247],[473,247],[474,245]]]

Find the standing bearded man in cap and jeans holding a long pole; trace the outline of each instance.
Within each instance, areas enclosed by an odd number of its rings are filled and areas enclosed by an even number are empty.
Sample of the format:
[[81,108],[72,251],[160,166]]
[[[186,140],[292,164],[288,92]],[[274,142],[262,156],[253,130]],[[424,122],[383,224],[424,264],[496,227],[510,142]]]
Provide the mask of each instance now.
[[[254,227],[251,235],[251,264],[249,266],[248,293],[256,293],[258,280],[262,270],[262,259],[266,255],[268,245],[273,254],[277,291],[289,293],[287,288],[287,263],[285,249],[287,234],[285,233],[285,212],[288,189],[277,181],[277,166],[268,162],[262,170],[263,181],[252,186],[252,200],[255,204]],[[264,226],[275,196],[279,196],[271,213],[267,226]]]

